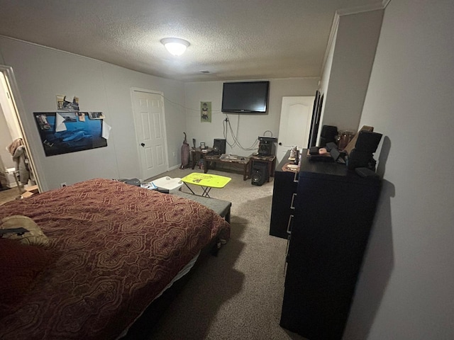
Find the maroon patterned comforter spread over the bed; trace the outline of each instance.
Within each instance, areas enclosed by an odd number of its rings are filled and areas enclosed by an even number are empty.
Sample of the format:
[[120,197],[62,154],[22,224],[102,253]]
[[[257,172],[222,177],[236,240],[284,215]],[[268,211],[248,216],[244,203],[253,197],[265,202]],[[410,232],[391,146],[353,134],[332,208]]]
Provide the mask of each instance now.
[[0,239],[7,289],[23,262],[33,267],[18,274],[33,277],[28,287],[19,280],[23,292],[0,303],[0,339],[117,339],[201,249],[230,236],[200,203],[107,179],[0,206],[0,221],[16,215],[30,217],[48,245],[9,249],[17,240]]

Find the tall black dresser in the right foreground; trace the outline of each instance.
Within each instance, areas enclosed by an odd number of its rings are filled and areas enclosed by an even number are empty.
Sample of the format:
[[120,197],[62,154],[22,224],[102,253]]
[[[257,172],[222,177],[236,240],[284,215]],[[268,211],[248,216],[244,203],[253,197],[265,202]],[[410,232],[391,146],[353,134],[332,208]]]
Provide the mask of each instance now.
[[381,183],[334,162],[300,166],[280,325],[342,339]]

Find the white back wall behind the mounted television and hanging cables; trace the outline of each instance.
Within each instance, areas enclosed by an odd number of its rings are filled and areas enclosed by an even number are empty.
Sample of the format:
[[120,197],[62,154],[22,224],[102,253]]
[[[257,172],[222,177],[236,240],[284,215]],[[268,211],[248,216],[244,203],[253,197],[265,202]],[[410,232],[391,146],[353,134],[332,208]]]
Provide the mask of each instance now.
[[[265,79],[267,80],[267,79]],[[226,152],[248,156],[257,152],[258,136],[274,136],[279,138],[279,118],[282,96],[314,96],[318,89],[319,78],[270,79],[270,97],[266,115],[222,113],[223,81],[193,82],[184,85],[187,106],[187,137],[192,146],[192,138],[196,146],[205,142],[213,146],[214,138],[224,138],[227,130]],[[211,101],[211,123],[201,123],[200,102]],[[224,118],[228,117],[233,133],[238,137],[240,146],[234,145],[230,128],[226,129]]]

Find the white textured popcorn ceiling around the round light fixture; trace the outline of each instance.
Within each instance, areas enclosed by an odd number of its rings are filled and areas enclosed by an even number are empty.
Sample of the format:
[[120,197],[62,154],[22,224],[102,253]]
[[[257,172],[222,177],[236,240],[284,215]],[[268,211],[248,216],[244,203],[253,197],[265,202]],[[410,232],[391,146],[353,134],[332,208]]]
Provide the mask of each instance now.
[[[0,0],[0,35],[181,81],[320,77],[336,11],[381,5],[382,0]],[[165,50],[160,40],[170,37],[191,43],[184,55]]]

